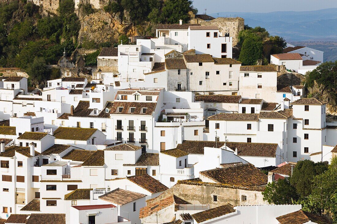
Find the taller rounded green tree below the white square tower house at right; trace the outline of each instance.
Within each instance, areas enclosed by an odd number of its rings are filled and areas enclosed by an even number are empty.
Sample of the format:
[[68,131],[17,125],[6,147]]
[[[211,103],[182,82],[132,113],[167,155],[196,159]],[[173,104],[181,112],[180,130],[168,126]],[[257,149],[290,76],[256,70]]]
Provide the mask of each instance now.
[[301,197],[306,197],[312,192],[313,179],[316,175],[322,174],[328,169],[323,162],[313,162],[311,160],[299,161],[294,167],[290,184],[296,188],[296,192]]

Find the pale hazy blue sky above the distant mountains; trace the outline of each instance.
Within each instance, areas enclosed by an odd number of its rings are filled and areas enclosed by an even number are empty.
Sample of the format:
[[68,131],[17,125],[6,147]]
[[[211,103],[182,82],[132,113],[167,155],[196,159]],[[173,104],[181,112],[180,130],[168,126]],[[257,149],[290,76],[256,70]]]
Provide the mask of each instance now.
[[193,0],[199,13],[312,11],[337,8],[337,0]]

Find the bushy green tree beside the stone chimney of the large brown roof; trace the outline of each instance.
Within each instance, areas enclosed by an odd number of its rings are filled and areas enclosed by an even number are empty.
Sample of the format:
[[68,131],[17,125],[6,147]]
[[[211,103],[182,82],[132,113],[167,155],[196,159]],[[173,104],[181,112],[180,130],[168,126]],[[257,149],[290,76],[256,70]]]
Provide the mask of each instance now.
[[296,189],[290,185],[287,179],[279,179],[277,182],[268,183],[264,192],[263,200],[274,204],[291,204],[292,200],[298,199]]

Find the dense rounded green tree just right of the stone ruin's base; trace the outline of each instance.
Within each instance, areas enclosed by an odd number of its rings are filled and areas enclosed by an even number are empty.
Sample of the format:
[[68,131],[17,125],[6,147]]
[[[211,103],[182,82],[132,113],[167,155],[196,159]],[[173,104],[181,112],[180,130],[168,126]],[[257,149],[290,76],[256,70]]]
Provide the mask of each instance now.
[[239,61],[243,65],[256,65],[259,60],[262,60],[262,46],[262,41],[258,38],[246,38],[241,47]]

